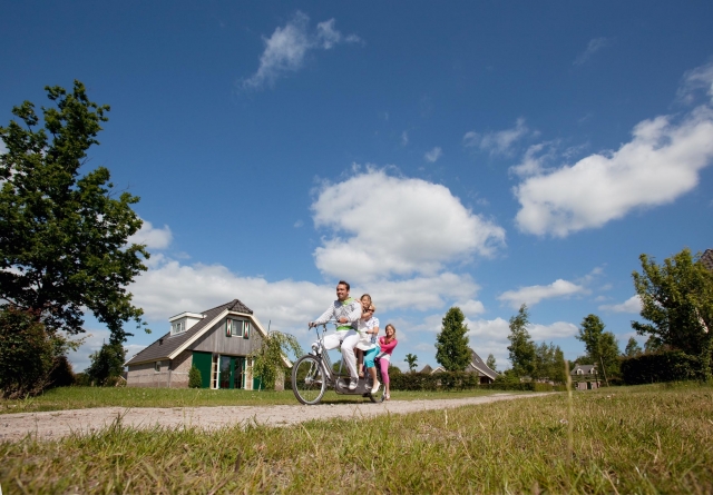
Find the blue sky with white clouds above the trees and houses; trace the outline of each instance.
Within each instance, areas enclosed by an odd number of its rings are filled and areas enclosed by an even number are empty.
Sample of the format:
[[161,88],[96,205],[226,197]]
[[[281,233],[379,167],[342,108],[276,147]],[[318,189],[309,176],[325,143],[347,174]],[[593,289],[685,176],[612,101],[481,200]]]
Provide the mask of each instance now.
[[590,313],[633,335],[642,253],[713,248],[711,2],[0,9],[3,125],[74,79],[111,106],[88,167],[141,198],[153,254],[129,355],[233,298],[306,345],[345,278],[402,367],[436,364],[452,305],[498,369],[522,303],[575,358]]

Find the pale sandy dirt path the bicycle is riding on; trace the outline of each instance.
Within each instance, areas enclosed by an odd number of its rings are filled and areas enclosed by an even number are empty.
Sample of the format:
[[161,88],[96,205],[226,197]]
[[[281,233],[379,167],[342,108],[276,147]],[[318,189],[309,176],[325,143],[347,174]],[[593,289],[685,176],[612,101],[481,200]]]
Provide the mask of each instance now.
[[372,417],[387,413],[407,414],[420,410],[443,409],[467,405],[488,404],[498,400],[538,397],[539,394],[495,394],[486,397],[467,397],[440,400],[391,400],[381,404],[354,403],[319,406],[218,406],[172,408],[100,407],[94,409],[56,410],[48,413],[19,413],[0,415],[0,442],[17,442],[27,434],[52,439],[77,433],[91,433],[110,425],[121,417],[124,425],[138,428],[199,426],[221,428],[240,423],[257,422],[271,426],[285,426],[310,419],[334,417]]

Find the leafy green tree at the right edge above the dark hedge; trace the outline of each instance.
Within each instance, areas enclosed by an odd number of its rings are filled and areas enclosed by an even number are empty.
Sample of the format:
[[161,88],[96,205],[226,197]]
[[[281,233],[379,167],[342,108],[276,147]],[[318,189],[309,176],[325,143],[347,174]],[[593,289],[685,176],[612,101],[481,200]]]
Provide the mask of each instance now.
[[648,335],[647,348],[662,346],[697,356],[701,373],[711,378],[713,352],[713,274],[691,250],[664,259],[663,265],[641,255],[642,273],[634,271],[634,288],[642,300],[642,318],[632,321],[638,335]]

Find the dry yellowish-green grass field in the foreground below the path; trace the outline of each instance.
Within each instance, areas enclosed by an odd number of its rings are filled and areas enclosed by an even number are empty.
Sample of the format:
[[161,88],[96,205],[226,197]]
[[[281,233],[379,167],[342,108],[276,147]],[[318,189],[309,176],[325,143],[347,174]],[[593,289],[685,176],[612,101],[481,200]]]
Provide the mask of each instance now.
[[[320,406],[318,406],[320,407]],[[0,444],[2,493],[713,492],[713,387],[649,385],[375,419]]]

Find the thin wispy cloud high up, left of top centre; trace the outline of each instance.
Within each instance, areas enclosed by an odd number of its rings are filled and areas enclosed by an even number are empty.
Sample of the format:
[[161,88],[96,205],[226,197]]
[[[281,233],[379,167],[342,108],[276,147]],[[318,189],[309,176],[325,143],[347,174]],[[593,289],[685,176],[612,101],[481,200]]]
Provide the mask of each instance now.
[[272,86],[286,73],[300,70],[310,51],[331,50],[341,42],[361,41],[355,34],[344,37],[334,28],[334,19],[320,22],[311,32],[309,16],[297,11],[283,28],[276,28],[270,38],[263,38],[265,50],[260,57],[260,67],[253,76],[243,80],[243,89]]

